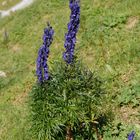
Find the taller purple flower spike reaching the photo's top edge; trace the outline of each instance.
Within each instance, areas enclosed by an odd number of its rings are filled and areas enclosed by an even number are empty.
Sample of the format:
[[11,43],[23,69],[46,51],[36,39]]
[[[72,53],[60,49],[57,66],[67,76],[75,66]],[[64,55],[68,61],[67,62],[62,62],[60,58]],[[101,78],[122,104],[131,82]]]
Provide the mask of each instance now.
[[80,25],[80,2],[79,0],[70,0],[69,7],[71,9],[70,22],[68,23],[68,33],[65,35],[64,47],[66,51],[63,53],[63,59],[71,64],[74,59],[74,49],[76,44],[76,34]]

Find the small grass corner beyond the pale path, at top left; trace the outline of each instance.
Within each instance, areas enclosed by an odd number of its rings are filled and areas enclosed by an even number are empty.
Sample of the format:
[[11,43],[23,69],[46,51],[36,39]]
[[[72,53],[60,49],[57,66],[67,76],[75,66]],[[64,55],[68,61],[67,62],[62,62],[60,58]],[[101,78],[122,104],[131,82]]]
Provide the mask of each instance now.
[[0,10],[7,10],[10,7],[16,5],[21,0],[0,0]]

